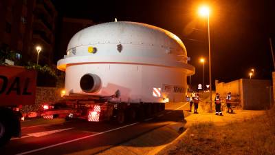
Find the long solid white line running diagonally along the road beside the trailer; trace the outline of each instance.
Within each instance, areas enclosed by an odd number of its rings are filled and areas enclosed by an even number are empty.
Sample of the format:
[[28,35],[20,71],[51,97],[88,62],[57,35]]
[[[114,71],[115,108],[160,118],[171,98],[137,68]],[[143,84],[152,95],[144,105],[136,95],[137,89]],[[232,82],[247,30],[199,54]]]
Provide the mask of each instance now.
[[70,140],[70,141],[65,141],[65,142],[63,142],[63,143],[58,143],[58,144],[54,144],[54,145],[50,145],[50,146],[46,146],[46,147],[41,147],[41,148],[39,148],[39,149],[33,149],[33,150],[28,151],[28,152],[22,152],[22,153],[17,154],[17,155],[30,154],[30,153],[33,153],[33,152],[41,151],[41,150],[43,150],[43,149],[48,149],[48,148],[51,148],[51,147],[56,147],[56,146],[63,145],[63,144],[67,144],[67,143],[72,143],[72,142],[74,142],[74,141],[80,141],[80,140],[83,140],[83,139],[85,139],[85,138],[90,138],[90,137],[92,137],[92,136],[98,136],[98,135],[100,135],[100,134],[105,134],[105,133],[108,133],[108,132],[113,132],[113,131],[115,131],[115,130],[120,130],[120,129],[125,128],[125,127],[129,127],[129,126],[132,126],[132,125],[136,125],[136,124],[138,124],[138,123],[140,123],[140,122],[133,123],[133,124],[129,124],[129,125],[124,125],[124,126],[122,126],[122,127],[118,127],[118,128],[112,129],[112,130],[107,130],[107,131],[105,131],[105,132],[99,132],[99,133],[97,133],[97,134],[91,134],[91,135],[89,135],[89,136],[83,136],[83,137],[81,137],[81,138],[76,138],[76,139],[73,139],[73,140]]

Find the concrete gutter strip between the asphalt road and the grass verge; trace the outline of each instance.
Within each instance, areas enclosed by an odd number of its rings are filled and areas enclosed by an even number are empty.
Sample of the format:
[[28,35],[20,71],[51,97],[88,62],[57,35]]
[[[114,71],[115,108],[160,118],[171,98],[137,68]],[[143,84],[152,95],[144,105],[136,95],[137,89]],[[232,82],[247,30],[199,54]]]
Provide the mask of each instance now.
[[170,123],[118,146],[100,152],[99,155],[155,155],[177,140],[183,130],[184,123]]

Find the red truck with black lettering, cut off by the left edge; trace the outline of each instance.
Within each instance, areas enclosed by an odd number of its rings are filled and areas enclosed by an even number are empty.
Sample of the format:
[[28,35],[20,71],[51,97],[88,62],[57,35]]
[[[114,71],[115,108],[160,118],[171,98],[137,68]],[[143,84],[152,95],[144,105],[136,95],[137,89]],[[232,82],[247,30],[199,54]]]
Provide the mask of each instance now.
[[34,104],[36,72],[23,67],[0,66],[0,146],[12,136],[21,136],[19,112],[22,105]]

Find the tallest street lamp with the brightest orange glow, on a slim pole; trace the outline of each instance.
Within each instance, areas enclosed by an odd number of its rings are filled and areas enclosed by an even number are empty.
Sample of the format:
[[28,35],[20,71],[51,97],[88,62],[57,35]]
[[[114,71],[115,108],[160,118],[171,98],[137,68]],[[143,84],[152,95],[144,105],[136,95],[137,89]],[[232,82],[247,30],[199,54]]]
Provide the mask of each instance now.
[[209,13],[210,10],[207,6],[202,6],[199,8],[199,14],[202,17],[206,17],[208,19],[208,50],[209,50],[209,87],[210,87],[210,111],[212,111],[212,80],[211,80],[211,50],[210,50],[210,26],[209,26]]

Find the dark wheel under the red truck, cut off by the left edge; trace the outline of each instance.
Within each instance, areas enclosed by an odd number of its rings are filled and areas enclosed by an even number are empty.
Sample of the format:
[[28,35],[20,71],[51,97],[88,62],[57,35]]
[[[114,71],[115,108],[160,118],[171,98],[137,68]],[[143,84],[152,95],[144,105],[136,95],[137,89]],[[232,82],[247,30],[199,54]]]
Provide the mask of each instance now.
[[3,119],[0,120],[0,146],[4,145],[11,138],[10,129],[8,124]]

